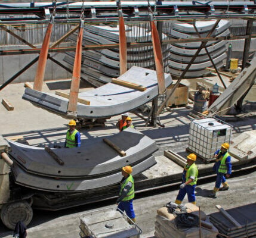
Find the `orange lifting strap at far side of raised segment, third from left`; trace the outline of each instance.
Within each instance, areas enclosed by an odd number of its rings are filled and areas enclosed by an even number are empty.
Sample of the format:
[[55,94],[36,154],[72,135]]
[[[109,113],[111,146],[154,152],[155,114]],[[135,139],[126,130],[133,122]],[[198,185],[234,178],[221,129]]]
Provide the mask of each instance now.
[[119,10],[119,63],[120,75],[127,71],[127,37],[125,36],[125,21]]

